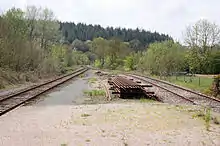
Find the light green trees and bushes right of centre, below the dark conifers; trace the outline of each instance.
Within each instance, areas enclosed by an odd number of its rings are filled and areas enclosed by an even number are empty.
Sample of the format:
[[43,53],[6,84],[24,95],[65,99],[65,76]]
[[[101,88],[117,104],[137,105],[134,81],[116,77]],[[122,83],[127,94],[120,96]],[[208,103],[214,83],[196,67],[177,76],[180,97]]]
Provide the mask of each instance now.
[[220,73],[220,27],[199,20],[187,27],[184,45],[167,40],[151,43],[143,51],[134,51],[129,43],[117,39],[94,39],[91,51],[95,65],[111,69],[139,70],[170,76],[177,72],[192,74]]

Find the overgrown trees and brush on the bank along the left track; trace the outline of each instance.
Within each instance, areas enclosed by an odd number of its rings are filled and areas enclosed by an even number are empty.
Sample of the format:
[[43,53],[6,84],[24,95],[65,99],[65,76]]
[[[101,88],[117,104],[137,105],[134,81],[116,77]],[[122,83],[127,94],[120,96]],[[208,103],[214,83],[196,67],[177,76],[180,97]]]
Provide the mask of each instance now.
[[[59,23],[47,8],[8,10],[0,16],[0,32],[0,88],[88,64],[87,55],[59,43]],[[25,77],[20,78],[20,74]]]

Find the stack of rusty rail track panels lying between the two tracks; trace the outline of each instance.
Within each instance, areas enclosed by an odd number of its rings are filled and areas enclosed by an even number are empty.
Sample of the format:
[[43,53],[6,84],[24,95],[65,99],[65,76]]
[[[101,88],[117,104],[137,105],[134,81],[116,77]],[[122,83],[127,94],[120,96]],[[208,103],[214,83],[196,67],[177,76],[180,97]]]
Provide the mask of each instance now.
[[152,87],[152,85],[140,85],[133,80],[127,79],[122,76],[116,76],[109,78],[108,83],[111,85],[110,90],[114,90],[112,94],[117,94],[120,98],[130,97],[143,97],[153,96],[154,92],[148,92],[146,87]]

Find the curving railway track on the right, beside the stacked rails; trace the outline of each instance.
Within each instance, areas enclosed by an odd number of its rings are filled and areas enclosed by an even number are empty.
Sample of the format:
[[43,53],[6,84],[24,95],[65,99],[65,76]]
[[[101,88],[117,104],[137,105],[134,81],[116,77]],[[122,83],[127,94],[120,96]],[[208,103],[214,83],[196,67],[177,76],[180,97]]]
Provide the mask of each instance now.
[[186,89],[166,81],[153,79],[146,76],[129,75],[143,82],[154,86],[153,90],[164,102],[184,103],[210,107],[214,111],[220,112],[220,100],[210,96]]

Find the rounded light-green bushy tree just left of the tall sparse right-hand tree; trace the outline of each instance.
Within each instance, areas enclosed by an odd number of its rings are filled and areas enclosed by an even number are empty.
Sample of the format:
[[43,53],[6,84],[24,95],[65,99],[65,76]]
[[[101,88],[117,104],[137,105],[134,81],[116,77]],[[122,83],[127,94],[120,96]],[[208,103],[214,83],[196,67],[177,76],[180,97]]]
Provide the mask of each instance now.
[[173,41],[153,43],[147,49],[143,66],[156,75],[171,75],[182,69],[182,52],[181,45]]

